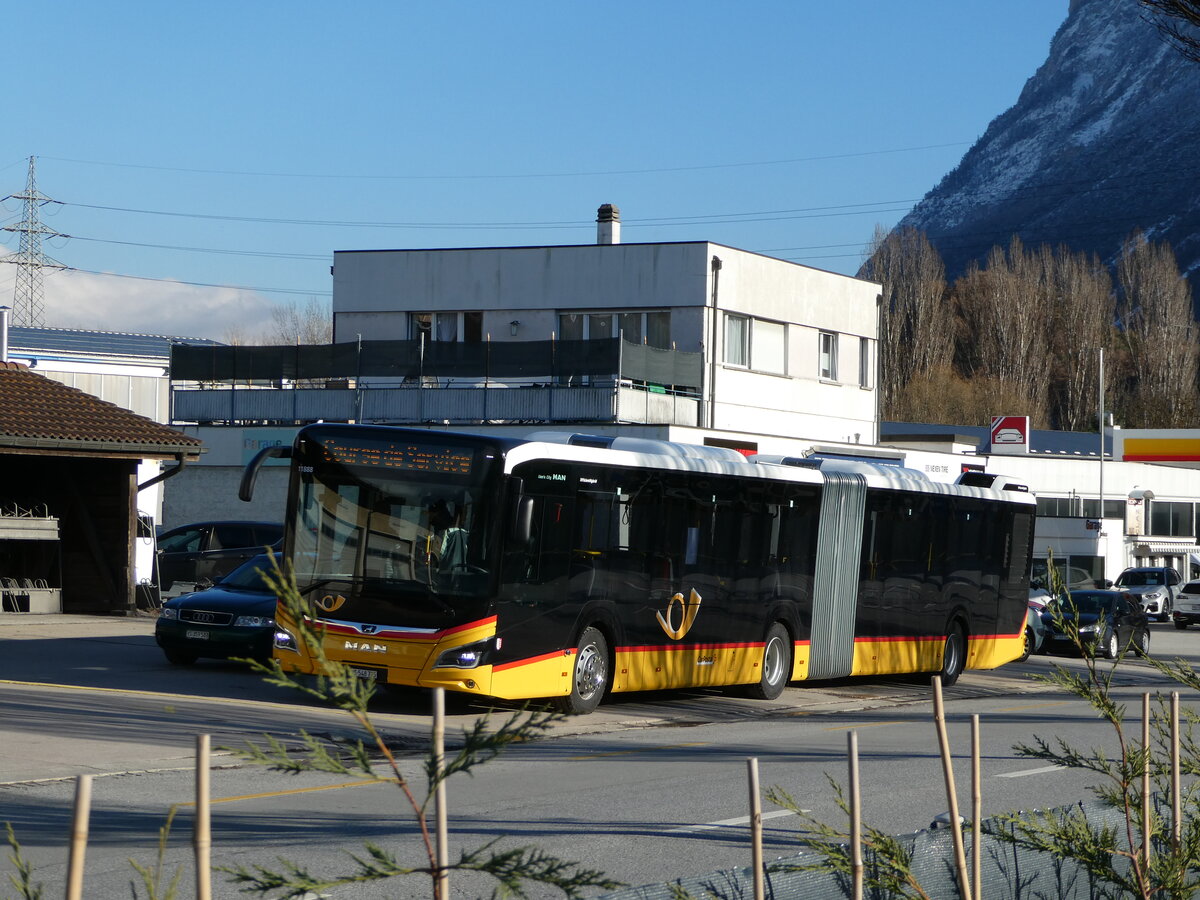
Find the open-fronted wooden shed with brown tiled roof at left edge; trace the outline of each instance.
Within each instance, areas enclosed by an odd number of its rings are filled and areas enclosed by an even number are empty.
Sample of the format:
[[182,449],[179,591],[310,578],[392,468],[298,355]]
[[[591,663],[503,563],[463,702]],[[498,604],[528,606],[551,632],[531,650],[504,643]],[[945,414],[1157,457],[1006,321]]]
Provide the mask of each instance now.
[[136,611],[138,464],[173,461],[157,481],[198,458],[200,446],[0,361],[0,611]]

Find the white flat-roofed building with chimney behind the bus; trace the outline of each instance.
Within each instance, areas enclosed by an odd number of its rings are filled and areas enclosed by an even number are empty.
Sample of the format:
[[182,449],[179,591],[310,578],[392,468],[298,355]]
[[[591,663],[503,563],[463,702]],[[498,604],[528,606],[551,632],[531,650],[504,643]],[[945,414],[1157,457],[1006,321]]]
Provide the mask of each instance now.
[[334,341],[620,336],[702,355],[698,384],[682,385],[698,401],[686,414],[625,424],[875,443],[878,284],[707,241],[618,235],[616,210],[601,206],[594,245],[337,252]]

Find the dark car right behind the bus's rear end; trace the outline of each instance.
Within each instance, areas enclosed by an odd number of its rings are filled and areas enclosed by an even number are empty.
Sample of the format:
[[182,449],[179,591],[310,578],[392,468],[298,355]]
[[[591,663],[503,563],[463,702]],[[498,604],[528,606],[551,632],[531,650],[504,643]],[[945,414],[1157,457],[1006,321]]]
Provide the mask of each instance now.
[[1063,594],[1050,601],[1042,612],[1042,622],[1046,626],[1046,649],[1069,648],[1072,642],[1064,626],[1078,623],[1084,646],[1109,659],[1128,649],[1150,652],[1150,620],[1136,600],[1121,590]]

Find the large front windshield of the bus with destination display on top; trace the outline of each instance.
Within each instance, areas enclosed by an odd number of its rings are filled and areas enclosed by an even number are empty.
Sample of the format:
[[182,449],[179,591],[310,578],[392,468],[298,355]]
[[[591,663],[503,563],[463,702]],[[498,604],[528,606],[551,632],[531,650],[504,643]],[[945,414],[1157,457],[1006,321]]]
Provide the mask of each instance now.
[[292,523],[301,589],[350,582],[368,594],[486,594],[497,505],[487,456],[436,438],[302,442]]

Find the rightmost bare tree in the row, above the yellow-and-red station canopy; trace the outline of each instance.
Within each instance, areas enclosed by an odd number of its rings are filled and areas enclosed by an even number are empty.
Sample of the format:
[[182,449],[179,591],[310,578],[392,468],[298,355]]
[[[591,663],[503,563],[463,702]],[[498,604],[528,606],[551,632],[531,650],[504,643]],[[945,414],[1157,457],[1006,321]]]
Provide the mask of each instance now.
[[1122,336],[1132,379],[1123,408],[1129,425],[1182,427],[1196,415],[1198,329],[1192,290],[1166,242],[1151,244],[1140,232],[1117,262]]

